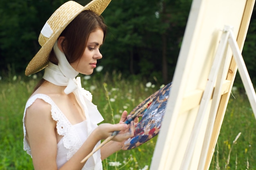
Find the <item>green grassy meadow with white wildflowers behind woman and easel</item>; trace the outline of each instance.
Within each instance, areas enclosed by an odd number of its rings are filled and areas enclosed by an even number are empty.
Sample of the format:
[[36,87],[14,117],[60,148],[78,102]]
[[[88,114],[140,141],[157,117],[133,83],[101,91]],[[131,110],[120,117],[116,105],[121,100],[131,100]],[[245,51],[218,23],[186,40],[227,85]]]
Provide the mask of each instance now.
[[[27,98],[40,76],[0,77],[0,170],[33,170],[31,157],[23,151],[22,117]],[[81,76],[82,86],[93,95],[103,122],[117,123],[162,84],[121,74]],[[240,136],[239,136],[239,135]],[[238,137],[236,139],[236,137]],[[147,170],[157,137],[132,149],[121,150],[103,161],[104,170]],[[229,99],[216,150],[209,170],[256,170],[256,119],[243,91]]]

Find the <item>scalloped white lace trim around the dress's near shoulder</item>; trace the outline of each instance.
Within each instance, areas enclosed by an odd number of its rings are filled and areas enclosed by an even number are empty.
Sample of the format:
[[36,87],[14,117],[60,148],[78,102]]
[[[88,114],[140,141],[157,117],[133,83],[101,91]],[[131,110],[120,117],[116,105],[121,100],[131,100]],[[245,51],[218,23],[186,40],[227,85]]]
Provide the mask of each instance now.
[[44,94],[36,94],[31,98],[29,98],[27,101],[25,111],[24,111],[24,116],[23,116],[24,150],[27,151],[27,154],[29,154],[32,157],[31,150],[26,139],[26,128],[24,124],[24,119],[25,119],[27,108],[31,106],[36,99],[43,99],[45,102],[47,102],[52,106],[51,108],[52,119],[56,121],[56,128],[57,128],[58,135],[63,136],[64,147],[69,150],[69,152],[67,153],[67,160],[69,160],[82,146],[82,141],[79,138],[78,134],[76,133],[76,130],[74,129],[70,121],[68,121],[67,117],[65,117],[65,115],[61,112],[61,110],[53,102],[53,100],[49,96]]

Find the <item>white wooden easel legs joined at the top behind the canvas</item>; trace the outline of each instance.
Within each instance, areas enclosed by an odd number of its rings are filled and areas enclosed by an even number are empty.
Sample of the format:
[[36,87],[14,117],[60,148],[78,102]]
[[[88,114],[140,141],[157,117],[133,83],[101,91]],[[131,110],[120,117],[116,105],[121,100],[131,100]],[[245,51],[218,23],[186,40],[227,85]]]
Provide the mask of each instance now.
[[202,125],[204,113],[207,110],[208,103],[212,97],[211,110],[210,110],[210,115],[208,119],[207,130],[205,133],[206,135],[204,137],[204,143],[203,143],[199,166],[198,166],[198,170],[204,169],[205,161],[206,161],[207,153],[209,149],[210,139],[213,132],[213,125],[214,125],[216,113],[219,107],[218,104],[220,103],[221,86],[223,84],[223,81],[225,80],[224,71],[225,71],[225,66],[227,66],[226,54],[227,54],[228,45],[231,47],[231,51],[234,55],[234,59],[236,61],[236,64],[238,65],[238,71],[243,81],[245,91],[249,98],[249,102],[252,106],[254,116],[256,118],[256,93],[254,91],[252,81],[249,77],[249,73],[247,71],[240,49],[238,48],[236,39],[234,38],[232,28],[231,26],[225,26],[225,28],[223,29],[220,44],[218,46],[215,60],[211,67],[211,72],[209,74],[209,78],[207,81],[206,91],[204,91],[201,102],[200,102],[198,115],[196,117],[195,124],[193,126],[193,130],[189,139],[189,144],[186,147],[185,157],[182,160],[182,166],[180,170],[187,170],[189,167],[189,164],[191,163],[192,155],[195,148],[195,142],[198,137],[197,135]]

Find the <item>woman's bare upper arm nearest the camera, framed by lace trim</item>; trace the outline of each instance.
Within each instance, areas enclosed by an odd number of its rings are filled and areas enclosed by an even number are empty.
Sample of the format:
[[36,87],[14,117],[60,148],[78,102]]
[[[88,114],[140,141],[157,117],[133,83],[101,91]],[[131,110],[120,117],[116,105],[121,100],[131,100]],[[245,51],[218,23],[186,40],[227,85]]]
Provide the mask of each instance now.
[[27,108],[25,127],[34,169],[56,170],[56,122],[52,119],[51,106],[42,99],[36,99],[36,101]]

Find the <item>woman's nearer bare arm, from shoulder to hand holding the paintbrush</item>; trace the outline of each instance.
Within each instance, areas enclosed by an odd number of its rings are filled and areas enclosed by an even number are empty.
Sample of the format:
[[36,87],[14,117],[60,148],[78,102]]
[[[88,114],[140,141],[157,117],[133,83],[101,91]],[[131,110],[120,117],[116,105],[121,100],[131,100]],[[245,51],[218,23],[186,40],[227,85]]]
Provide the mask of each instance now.
[[[27,140],[31,148],[33,164],[35,170],[57,170],[57,138],[55,133],[56,121],[52,119],[51,106],[41,99],[27,108],[25,116],[25,126],[27,131]],[[81,160],[86,157],[101,139],[106,139],[115,130],[121,130],[121,133],[115,137],[116,141],[124,141],[132,137],[126,124],[101,124],[74,156],[67,161],[60,170],[81,170],[84,163]]]

